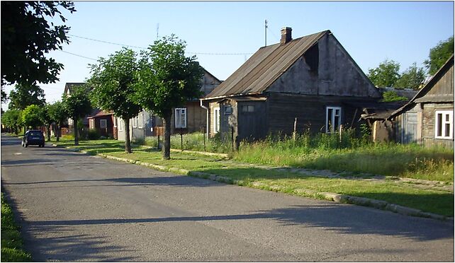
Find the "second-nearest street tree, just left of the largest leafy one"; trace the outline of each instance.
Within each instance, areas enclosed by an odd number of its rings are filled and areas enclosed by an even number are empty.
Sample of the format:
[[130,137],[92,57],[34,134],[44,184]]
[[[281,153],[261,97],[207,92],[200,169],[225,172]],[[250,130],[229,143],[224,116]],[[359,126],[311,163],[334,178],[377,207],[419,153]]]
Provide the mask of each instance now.
[[137,116],[142,107],[133,100],[137,82],[137,58],[131,49],[123,48],[108,59],[100,58],[91,65],[93,88],[91,100],[101,110],[113,111],[125,122],[125,152],[131,153],[130,119]]

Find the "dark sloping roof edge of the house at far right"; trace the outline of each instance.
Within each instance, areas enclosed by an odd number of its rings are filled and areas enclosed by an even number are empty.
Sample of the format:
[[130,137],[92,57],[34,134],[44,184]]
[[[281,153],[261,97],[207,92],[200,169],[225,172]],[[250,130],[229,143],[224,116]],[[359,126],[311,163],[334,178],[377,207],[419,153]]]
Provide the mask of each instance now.
[[[446,63],[441,67],[441,69],[439,69],[436,72],[436,74],[434,74],[432,76],[432,78],[429,79],[427,84],[425,84],[425,86],[423,86],[423,88],[421,90],[419,90],[419,92],[414,96],[414,98],[412,98],[412,100],[409,101],[409,103],[407,103],[403,107],[400,107],[398,110],[395,110],[395,112],[393,112],[391,114],[391,116],[389,116],[387,119],[392,119],[396,115],[400,115],[402,112],[409,110],[410,108],[415,106],[415,103],[423,102],[423,101],[418,101],[418,100],[420,98],[422,98],[423,96],[425,96],[429,92],[429,90],[431,90],[433,88],[434,84],[436,84],[437,81],[439,81],[439,79],[442,78],[442,76],[444,74],[446,74],[446,72],[453,65],[454,65],[454,54],[452,54],[451,57],[449,59],[447,59]],[[451,96],[451,98],[449,98],[449,100],[447,100],[447,101],[446,101],[446,98],[443,98],[443,99],[444,100],[442,100],[442,101],[445,101],[445,102],[451,102],[451,103],[454,102],[453,96]]]

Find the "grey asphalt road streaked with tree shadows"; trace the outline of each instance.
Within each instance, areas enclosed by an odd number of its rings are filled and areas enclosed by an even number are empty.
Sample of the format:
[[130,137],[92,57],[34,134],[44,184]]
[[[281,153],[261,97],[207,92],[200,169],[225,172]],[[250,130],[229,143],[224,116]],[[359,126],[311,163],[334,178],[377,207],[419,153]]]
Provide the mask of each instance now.
[[1,136],[35,261],[454,261],[454,222],[292,197]]

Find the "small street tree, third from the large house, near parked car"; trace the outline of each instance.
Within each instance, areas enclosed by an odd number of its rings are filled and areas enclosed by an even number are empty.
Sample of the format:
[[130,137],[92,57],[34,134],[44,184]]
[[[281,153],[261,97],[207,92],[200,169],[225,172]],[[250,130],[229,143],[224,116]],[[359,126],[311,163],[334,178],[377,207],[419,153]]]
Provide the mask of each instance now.
[[74,145],[79,145],[79,134],[77,132],[77,121],[79,118],[91,112],[89,99],[89,88],[87,86],[74,86],[71,94],[63,94],[62,103],[67,116],[71,117],[74,125]]

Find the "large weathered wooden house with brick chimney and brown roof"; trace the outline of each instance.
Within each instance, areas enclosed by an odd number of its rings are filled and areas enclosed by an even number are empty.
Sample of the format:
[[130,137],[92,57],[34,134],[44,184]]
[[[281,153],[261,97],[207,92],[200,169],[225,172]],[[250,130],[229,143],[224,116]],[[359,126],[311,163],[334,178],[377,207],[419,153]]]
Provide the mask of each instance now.
[[364,103],[381,94],[330,30],[261,47],[201,99],[210,136],[233,133],[237,143],[267,134],[334,132],[356,127]]

